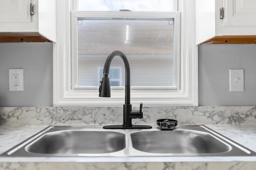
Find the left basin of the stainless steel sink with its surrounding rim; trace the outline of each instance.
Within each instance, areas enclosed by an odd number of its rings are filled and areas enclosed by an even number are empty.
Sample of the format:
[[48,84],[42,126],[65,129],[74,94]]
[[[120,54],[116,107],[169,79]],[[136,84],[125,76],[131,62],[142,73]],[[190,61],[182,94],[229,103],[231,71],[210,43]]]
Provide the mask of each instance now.
[[[102,127],[101,127],[102,128]],[[112,156],[126,148],[126,135],[98,127],[50,126],[7,151],[13,156]]]

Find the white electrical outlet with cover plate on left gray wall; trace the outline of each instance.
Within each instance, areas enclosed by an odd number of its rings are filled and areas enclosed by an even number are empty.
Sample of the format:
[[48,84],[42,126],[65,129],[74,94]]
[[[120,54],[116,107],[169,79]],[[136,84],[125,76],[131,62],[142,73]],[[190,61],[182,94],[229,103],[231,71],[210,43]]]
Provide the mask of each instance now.
[[9,91],[24,91],[24,69],[9,69]]

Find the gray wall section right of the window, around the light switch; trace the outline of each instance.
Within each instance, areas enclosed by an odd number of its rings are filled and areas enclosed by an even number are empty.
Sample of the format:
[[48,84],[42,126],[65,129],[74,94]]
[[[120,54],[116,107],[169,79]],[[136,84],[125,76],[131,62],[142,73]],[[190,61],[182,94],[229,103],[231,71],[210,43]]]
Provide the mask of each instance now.
[[[244,69],[244,92],[229,92],[229,69]],[[199,45],[200,106],[256,105],[256,45]]]

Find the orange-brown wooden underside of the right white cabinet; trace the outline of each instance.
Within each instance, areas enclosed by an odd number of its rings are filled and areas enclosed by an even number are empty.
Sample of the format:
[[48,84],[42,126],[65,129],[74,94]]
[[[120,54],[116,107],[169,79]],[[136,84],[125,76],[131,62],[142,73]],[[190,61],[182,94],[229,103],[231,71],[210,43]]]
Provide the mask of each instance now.
[[256,35],[218,35],[202,44],[256,44]]

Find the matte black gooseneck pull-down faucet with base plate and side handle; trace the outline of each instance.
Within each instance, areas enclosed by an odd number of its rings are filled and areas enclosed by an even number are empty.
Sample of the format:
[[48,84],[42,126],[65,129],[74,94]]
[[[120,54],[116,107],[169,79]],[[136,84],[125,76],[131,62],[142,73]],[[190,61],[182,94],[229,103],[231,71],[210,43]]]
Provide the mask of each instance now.
[[142,118],[142,103],[140,103],[140,111],[132,110],[132,105],[130,104],[130,65],[127,57],[122,51],[114,50],[109,53],[106,58],[104,68],[103,68],[103,77],[100,80],[99,87],[99,97],[110,97],[110,81],[109,81],[109,69],[112,59],[115,56],[119,56],[124,62],[125,68],[125,102],[123,106],[123,125],[108,125],[104,126],[104,129],[150,129],[151,126],[148,125],[132,125],[132,119]]

